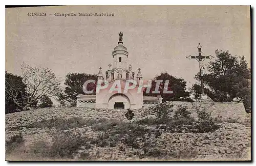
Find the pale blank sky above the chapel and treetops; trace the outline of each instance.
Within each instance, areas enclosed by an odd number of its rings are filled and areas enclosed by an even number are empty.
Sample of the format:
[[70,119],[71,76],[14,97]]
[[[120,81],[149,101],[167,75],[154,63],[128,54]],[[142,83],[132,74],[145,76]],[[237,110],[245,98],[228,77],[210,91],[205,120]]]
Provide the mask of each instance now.
[[[54,16],[70,12],[114,16]],[[197,54],[198,43],[205,55],[229,50],[250,66],[249,6],[61,6],[6,9],[6,70],[19,75],[25,62],[62,79],[72,72],[97,74],[99,67],[105,72],[120,31],[132,68],[135,74],[141,68],[144,79],[167,71],[190,87],[199,66],[186,56]]]

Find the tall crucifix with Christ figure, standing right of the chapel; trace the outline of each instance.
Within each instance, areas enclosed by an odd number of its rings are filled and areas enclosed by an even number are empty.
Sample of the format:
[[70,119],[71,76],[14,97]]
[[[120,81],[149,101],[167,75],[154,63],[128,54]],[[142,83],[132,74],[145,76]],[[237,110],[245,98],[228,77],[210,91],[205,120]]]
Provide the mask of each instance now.
[[199,43],[198,46],[198,56],[187,56],[186,58],[190,59],[196,59],[199,63],[199,73],[200,73],[200,81],[201,81],[201,94],[204,95],[204,79],[203,79],[203,62],[206,59],[212,59],[214,57],[212,56],[202,56],[202,46]]

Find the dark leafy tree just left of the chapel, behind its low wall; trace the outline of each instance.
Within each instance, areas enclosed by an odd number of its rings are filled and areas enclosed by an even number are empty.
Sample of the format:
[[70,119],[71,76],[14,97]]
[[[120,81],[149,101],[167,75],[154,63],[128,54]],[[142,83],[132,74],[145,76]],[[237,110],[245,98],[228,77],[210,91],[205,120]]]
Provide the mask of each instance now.
[[[84,82],[89,79],[97,80],[96,74],[86,74],[86,73],[68,73],[65,79],[65,91],[64,93],[58,94],[58,102],[61,105],[68,105],[68,106],[76,106],[76,96],[78,94],[84,94],[82,87]],[[95,95],[95,84],[88,84],[87,86],[88,91],[94,90],[92,94],[88,95]]]

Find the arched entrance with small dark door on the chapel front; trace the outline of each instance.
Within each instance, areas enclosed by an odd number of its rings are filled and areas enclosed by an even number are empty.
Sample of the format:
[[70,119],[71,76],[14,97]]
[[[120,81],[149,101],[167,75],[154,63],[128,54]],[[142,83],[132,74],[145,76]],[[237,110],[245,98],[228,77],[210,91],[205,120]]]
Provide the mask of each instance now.
[[128,109],[130,108],[130,99],[124,94],[114,94],[110,97],[108,107],[110,109]]

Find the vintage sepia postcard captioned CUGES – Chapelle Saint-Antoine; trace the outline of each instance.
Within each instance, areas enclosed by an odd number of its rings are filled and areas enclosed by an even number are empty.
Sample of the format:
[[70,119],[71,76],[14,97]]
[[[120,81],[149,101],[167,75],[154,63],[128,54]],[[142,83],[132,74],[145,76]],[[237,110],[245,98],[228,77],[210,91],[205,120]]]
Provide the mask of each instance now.
[[250,161],[250,6],[6,8],[6,160]]

